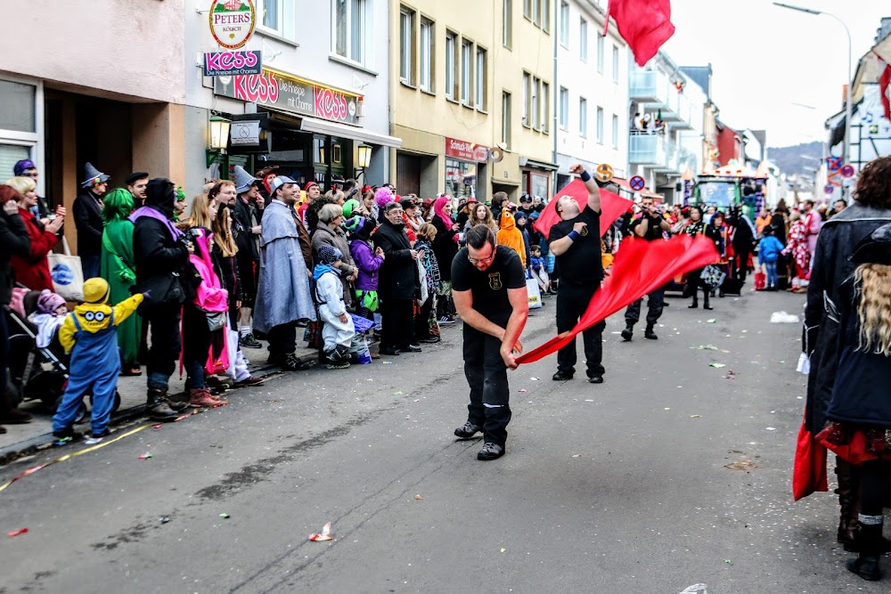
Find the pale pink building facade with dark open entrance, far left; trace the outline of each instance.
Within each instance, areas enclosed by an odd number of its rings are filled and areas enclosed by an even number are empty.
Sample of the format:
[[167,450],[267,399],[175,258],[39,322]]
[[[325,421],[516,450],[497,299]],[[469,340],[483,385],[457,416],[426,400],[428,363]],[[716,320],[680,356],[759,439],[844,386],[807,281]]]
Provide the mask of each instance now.
[[[183,13],[184,0],[35,0],[17,11],[0,42],[0,180],[31,159],[38,193],[69,212],[87,161],[112,187],[135,167],[182,180]],[[77,246],[74,224],[65,234]]]

